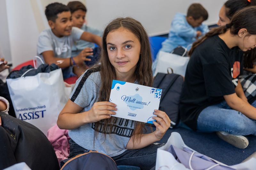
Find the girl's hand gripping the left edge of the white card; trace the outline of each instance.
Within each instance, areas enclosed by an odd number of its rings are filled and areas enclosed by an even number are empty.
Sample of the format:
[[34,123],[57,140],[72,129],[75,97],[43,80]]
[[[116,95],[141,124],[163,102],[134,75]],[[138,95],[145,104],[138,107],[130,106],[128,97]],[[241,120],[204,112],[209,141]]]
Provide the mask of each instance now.
[[102,119],[109,119],[111,115],[116,115],[116,104],[108,101],[100,101],[93,104],[92,108],[88,111],[88,122],[98,122]]

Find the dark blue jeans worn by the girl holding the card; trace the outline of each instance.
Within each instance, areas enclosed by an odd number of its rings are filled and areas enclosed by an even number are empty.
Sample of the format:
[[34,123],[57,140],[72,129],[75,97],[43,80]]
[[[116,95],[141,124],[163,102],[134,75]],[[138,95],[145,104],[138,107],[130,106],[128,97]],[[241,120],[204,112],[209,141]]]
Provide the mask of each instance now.
[[[77,154],[88,152],[87,149],[79,146],[72,139],[69,140],[70,153],[68,158],[72,158]],[[164,144],[150,144],[141,149],[126,150],[124,153],[112,157],[116,165],[138,166],[140,169],[151,169],[156,166],[156,150]],[[99,151],[100,152],[100,151]]]

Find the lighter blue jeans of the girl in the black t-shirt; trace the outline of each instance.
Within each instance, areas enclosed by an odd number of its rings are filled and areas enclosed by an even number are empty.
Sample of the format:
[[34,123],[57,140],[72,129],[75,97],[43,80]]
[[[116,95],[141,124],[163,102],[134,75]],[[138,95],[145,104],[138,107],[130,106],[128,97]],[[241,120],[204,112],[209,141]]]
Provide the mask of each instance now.
[[[256,107],[256,101],[252,103]],[[198,116],[197,130],[201,132],[224,131],[233,135],[256,135],[256,121],[233,110],[226,101],[206,107]]]

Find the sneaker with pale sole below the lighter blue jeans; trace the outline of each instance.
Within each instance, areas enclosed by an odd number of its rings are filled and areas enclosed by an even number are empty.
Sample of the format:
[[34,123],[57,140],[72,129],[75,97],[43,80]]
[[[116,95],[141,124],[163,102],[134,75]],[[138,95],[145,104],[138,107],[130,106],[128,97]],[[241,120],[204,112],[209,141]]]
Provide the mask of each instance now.
[[228,142],[229,144],[232,144],[237,148],[244,149],[249,144],[248,139],[242,135],[231,135],[227,132],[221,132],[221,131],[216,133],[218,137],[220,137],[220,139]]

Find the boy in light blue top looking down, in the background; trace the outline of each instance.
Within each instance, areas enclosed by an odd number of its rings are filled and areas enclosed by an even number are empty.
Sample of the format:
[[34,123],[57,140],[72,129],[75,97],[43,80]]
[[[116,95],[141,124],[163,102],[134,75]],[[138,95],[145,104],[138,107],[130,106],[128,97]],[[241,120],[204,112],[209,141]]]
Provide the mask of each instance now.
[[172,20],[168,39],[162,43],[160,50],[172,52],[178,46],[185,48],[209,31],[208,26],[202,24],[208,18],[208,12],[201,4],[191,4],[187,16],[177,13]]

